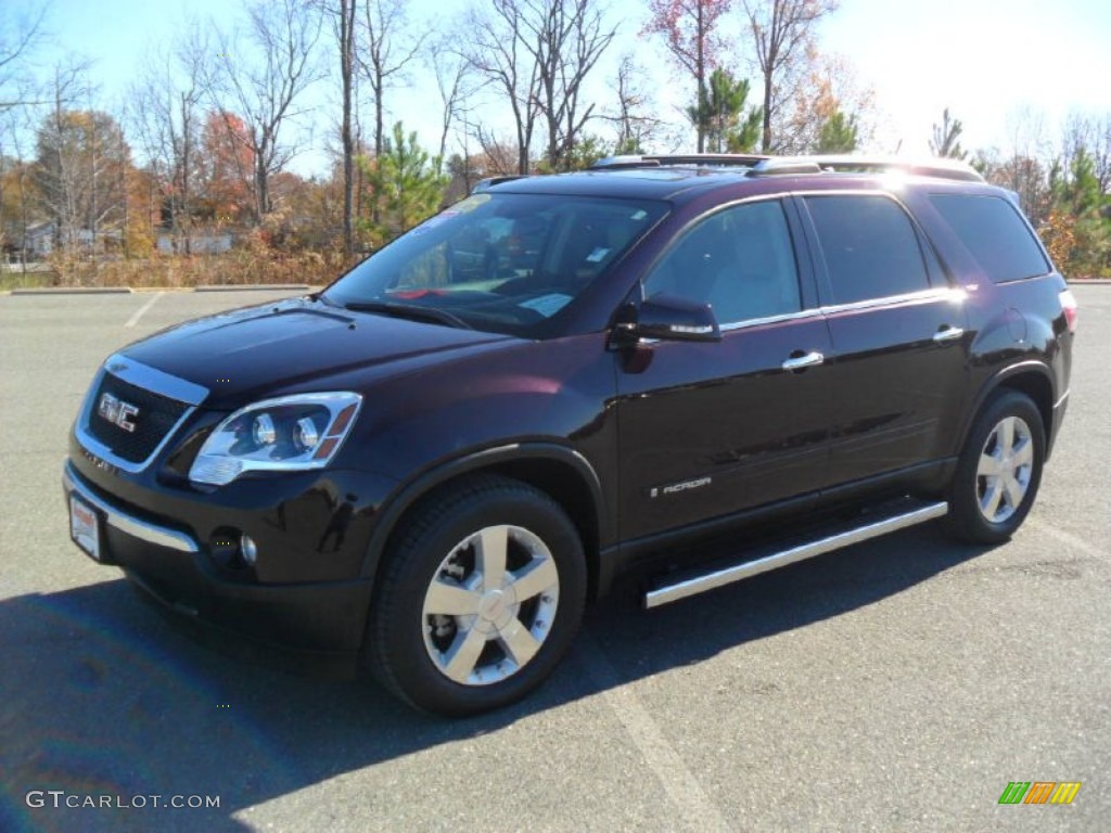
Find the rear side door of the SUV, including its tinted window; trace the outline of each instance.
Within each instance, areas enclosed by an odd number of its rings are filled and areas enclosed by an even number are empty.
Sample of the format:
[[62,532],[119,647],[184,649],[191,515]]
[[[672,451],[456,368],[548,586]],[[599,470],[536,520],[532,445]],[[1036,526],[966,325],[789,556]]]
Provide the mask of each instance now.
[[830,470],[847,483],[952,453],[968,373],[963,293],[887,193],[800,198],[834,360]]

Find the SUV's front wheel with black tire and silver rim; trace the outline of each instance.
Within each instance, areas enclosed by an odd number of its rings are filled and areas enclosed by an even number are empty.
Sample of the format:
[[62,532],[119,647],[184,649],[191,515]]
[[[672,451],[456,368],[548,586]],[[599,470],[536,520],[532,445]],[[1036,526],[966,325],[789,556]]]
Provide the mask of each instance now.
[[[491,553],[499,550],[502,530],[503,589],[484,589],[482,552],[488,541]],[[370,670],[387,689],[417,709],[463,716],[520,700],[547,679],[574,638],[587,595],[582,542],[556,501],[508,478],[469,478],[416,505],[392,541],[364,641]],[[497,558],[490,563],[497,575]],[[536,591],[553,574],[554,591],[550,583]],[[433,581],[457,594],[453,602],[478,600],[477,612],[429,613]],[[518,588],[532,595],[517,600]],[[469,678],[458,679],[468,660],[452,666],[449,658],[469,658],[480,642]]]

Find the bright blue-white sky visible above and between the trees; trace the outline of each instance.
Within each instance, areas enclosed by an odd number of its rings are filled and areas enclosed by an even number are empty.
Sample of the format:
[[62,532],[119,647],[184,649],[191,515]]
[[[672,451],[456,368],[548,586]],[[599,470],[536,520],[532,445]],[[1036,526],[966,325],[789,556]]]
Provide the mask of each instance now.
[[[6,16],[40,6],[2,2]],[[647,2],[611,0],[609,6],[624,21],[610,63],[620,52],[635,50],[651,67],[645,83],[662,107],[681,103],[688,84],[671,73],[662,46],[638,36]],[[432,14],[443,19],[461,12],[466,3],[412,0],[410,7],[420,27]],[[171,42],[187,17],[211,16],[230,27],[238,8],[237,0],[53,0],[48,28],[54,40],[34,62],[49,67],[68,53],[94,59],[100,106],[118,110],[147,50]],[[821,46],[845,56],[858,82],[874,90],[873,150],[893,151],[901,142],[904,151],[925,152],[931,126],[947,106],[964,124],[967,148],[1007,147],[1024,112],[1042,117],[1051,141],[1071,112],[1111,114],[1111,0],[842,0],[823,24]],[[740,62],[734,69],[747,70]],[[602,76],[595,84],[604,89]],[[418,71],[387,104],[392,118],[432,144],[439,126],[437,108],[429,103],[436,96],[431,78]],[[314,98],[317,114],[303,129],[316,131],[312,141],[319,147],[336,97],[320,86]],[[493,109],[484,118],[503,123]],[[322,171],[323,155],[309,152],[293,167],[302,173]]]

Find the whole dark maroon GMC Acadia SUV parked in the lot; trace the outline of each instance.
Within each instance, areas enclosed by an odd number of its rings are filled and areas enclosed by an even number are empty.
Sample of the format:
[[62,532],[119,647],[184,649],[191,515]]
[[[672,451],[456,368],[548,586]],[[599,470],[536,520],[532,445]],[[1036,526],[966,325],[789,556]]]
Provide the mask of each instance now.
[[934,518],[1007,539],[1075,314],[1013,194],[959,164],[517,179],[323,292],[110,357],[71,532],[206,628],[479,712],[621,575],[654,606]]

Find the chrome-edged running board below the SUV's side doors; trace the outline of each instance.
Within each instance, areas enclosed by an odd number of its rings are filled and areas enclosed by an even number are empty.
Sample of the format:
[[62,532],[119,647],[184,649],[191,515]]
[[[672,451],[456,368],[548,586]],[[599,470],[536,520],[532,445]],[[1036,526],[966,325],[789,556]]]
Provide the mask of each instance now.
[[[669,602],[685,599],[689,595],[703,593],[707,590],[732,584],[734,581],[759,575],[769,570],[775,570],[777,568],[787,566],[798,561],[812,559],[814,555],[840,550],[843,546],[859,544],[862,541],[879,538],[880,535],[885,535],[889,532],[905,529],[907,526],[932,521],[934,518],[941,518],[947,514],[949,512],[949,504],[941,501],[938,503],[919,503],[918,508],[912,511],[905,511],[905,505],[901,505],[899,509],[898,513],[889,513],[885,516],[875,518],[863,525],[859,525],[858,523],[858,525],[849,529],[827,534],[823,538],[799,544],[798,546],[773,552],[754,561],[745,561],[733,566],[697,574],[657,588],[655,590],[650,590],[644,594],[644,606],[659,608],[661,604],[668,604]],[[690,574],[688,573],[688,575]]]

